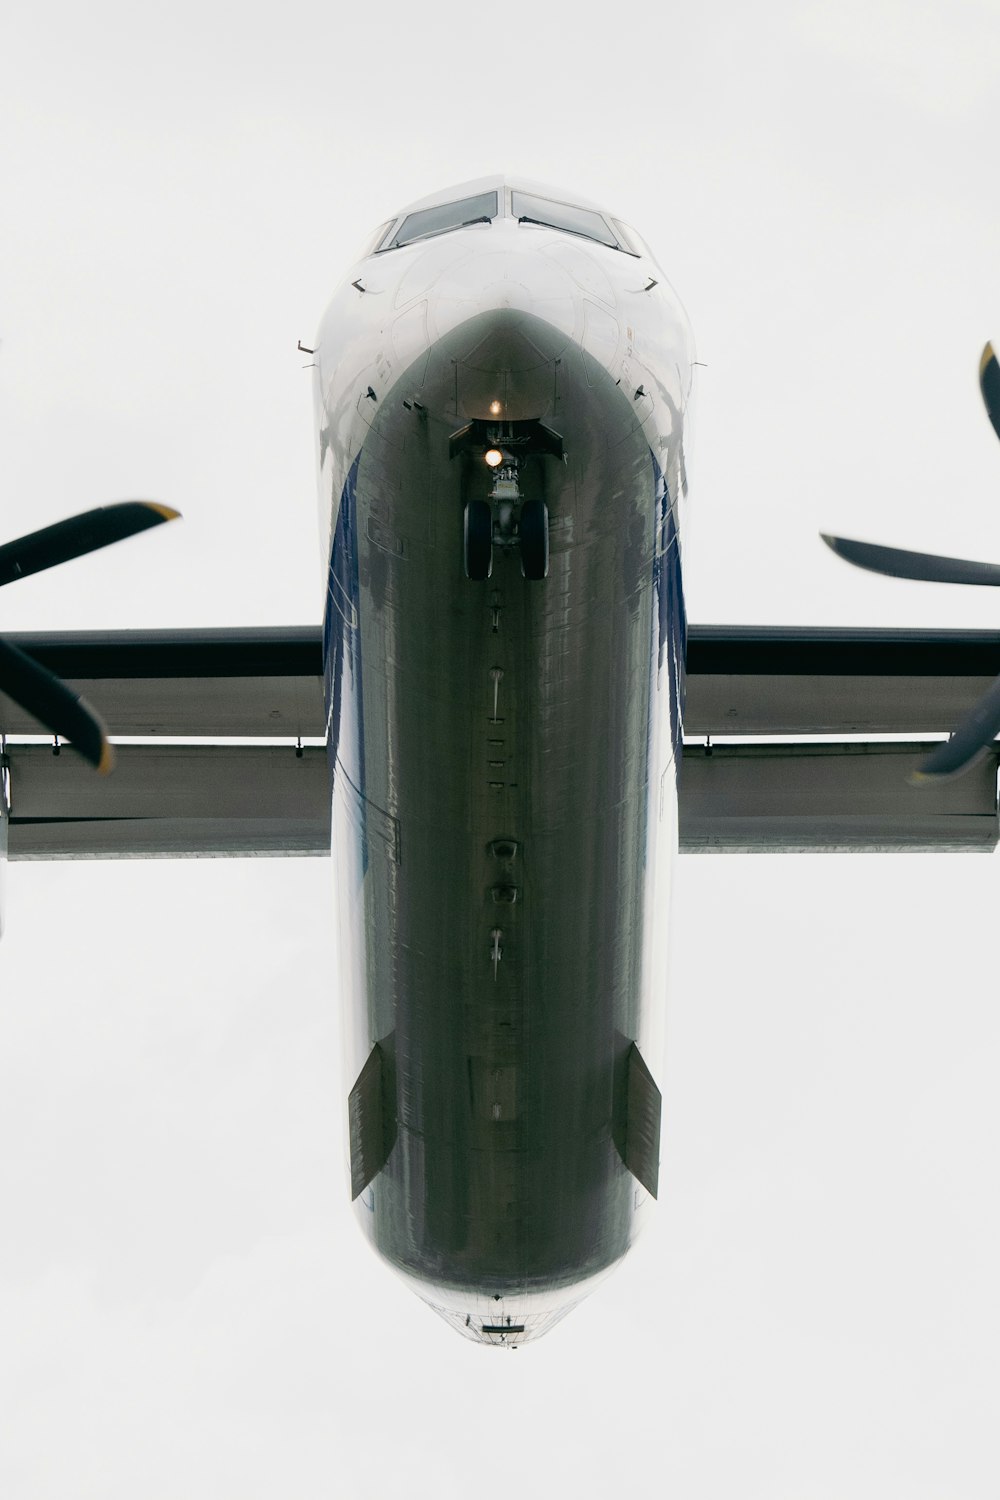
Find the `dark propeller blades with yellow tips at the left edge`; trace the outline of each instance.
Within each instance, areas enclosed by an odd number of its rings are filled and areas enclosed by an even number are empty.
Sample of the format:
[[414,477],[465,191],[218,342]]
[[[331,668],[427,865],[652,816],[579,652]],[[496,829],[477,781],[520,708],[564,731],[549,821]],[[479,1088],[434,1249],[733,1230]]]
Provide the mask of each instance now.
[[[0,586],[12,584],[16,578],[42,573],[57,562],[67,562],[85,552],[96,552],[112,542],[121,542],[123,537],[135,536],[136,531],[147,531],[175,518],[177,512],[168,506],[156,506],[148,500],[124,500],[117,506],[103,506],[87,510],[82,516],[58,520],[54,526],[43,526],[42,531],[31,531],[18,542],[0,546]],[[94,711],[82,698],[70,693],[54,672],[39,666],[3,638],[0,638],[0,692],[27,710],[51,734],[69,740],[73,748],[99,771],[111,770],[114,756]]]

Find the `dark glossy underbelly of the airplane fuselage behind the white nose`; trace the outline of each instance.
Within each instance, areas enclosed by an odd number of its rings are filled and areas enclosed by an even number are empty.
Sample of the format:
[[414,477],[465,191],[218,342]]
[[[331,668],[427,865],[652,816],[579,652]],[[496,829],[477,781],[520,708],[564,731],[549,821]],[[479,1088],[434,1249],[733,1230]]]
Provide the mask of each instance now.
[[679,567],[640,412],[579,351],[550,363],[567,459],[525,470],[544,580],[498,546],[489,580],[465,576],[463,496],[489,476],[450,458],[460,366],[435,350],[369,398],[334,534],[349,1065],[378,1044],[385,1112],[358,1214],[430,1300],[594,1276],[645,1197],[627,1074],[633,1044],[660,1062]]

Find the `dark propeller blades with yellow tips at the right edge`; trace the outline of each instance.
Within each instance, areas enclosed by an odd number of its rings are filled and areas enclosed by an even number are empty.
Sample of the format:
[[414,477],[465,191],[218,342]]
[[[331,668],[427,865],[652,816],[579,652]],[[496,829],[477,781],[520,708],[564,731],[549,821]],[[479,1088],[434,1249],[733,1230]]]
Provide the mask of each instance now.
[[[979,360],[979,388],[987,406],[993,430],[1000,438],[1000,364],[987,344]],[[933,552],[906,552],[903,548],[882,548],[870,542],[852,542],[849,537],[828,537],[823,542],[838,556],[855,567],[871,573],[888,573],[891,578],[915,578],[930,584],[981,584],[1000,586],[1000,567],[996,562],[972,562],[967,558],[942,558]],[[943,746],[924,760],[912,780],[925,782],[934,776],[958,776],[967,771],[973,760],[1000,734],[1000,676],[987,688],[979,702]]]

